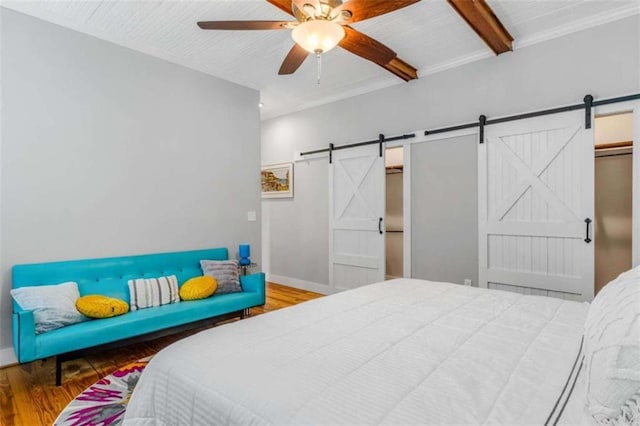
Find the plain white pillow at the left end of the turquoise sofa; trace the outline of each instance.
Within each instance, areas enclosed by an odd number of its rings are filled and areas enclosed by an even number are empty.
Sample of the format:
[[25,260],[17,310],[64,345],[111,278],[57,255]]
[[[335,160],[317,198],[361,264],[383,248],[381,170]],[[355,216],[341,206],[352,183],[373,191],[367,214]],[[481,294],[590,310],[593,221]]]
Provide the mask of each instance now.
[[76,309],[80,292],[73,281],[14,288],[10,293],[22,309],[33,311],[36,334],[88,319]]

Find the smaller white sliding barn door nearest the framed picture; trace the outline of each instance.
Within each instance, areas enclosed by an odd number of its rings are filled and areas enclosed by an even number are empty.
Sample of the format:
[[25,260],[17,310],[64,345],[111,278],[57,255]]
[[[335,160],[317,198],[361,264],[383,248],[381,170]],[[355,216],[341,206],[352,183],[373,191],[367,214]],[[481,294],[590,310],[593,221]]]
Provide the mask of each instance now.
[[329,284],[333,289],[384,280],[384,213],[385,169],[379,146],[334,151],[329,165]]

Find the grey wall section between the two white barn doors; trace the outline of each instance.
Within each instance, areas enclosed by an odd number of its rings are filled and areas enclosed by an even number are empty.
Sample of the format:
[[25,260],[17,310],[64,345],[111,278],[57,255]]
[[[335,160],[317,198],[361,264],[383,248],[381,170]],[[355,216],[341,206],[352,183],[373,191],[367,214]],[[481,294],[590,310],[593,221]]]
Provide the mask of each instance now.
[[411,147],[411,276],[478,285],[477,136]]

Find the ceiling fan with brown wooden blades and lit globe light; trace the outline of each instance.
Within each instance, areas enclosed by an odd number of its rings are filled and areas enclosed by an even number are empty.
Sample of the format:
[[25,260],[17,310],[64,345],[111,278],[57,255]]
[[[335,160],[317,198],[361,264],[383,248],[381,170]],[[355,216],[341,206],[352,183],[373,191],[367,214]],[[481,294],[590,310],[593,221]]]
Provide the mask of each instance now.
[[[203,30],[285,30],[295,41],[278,74],[293,74],[309,53],[320,55],[340,46],[405,81],[418,78],[416,69],[377,40],[349,24],[410,6],[420,0],[267,0],[296,21],[202,21]],[[319,62],[318,62],[319,63]]]

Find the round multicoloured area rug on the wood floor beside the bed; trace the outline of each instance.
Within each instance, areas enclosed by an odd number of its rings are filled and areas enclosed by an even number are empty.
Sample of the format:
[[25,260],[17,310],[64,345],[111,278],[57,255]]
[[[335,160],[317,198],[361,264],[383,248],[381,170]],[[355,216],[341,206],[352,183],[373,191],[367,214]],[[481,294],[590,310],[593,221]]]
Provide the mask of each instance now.
[[127,364],[85,389],[62,410],[54,425],[119,425],[149,358]]

